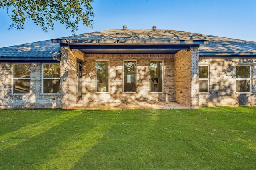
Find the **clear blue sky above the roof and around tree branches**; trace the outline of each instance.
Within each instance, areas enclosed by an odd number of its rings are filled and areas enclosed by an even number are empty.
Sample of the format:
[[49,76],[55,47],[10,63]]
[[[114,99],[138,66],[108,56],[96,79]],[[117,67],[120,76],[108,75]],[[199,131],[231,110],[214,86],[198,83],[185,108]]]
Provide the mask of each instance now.
[[[76,34],[105,29],[174,29],[256,41],[256,0],[94,0],[93,28],[79,25]],[[0,8],[0,47],[72,35],[65,25],[42,31],[32,21],[23,30],[8,30],[12,20]]]

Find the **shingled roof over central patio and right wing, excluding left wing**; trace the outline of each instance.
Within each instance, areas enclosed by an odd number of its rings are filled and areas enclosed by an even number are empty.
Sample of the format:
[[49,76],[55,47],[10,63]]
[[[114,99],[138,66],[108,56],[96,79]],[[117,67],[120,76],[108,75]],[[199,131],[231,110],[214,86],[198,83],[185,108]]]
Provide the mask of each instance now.
[[256,42],[175,30],[108,29],[52,39],[82,44],[200,44],[200,55],[256,55]]

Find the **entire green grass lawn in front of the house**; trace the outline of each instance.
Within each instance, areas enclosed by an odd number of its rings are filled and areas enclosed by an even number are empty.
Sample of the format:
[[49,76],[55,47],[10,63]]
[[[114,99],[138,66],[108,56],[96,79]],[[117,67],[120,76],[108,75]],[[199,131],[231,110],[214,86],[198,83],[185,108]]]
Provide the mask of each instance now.
[[256,169],[256,107],[0,110],[0,169]]

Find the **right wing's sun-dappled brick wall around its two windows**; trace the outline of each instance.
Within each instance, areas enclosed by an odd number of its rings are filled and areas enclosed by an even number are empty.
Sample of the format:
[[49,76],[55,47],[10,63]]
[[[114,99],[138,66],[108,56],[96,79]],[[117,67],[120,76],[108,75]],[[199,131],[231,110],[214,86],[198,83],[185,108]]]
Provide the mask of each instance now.
[[[256,59],[201,58],[209,66],[209,93],[199,94],[200,106],[256,106]],[[236,92],[236,66],[251,65],[252,93]]]

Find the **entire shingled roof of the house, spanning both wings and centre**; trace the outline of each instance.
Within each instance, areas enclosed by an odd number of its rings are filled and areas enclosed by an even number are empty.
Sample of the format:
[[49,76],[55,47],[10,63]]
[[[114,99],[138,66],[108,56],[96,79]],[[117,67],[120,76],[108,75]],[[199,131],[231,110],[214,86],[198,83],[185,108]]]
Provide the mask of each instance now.
[[[256,42],[175,30],[108,29],[58,39],[0,48],[0,60],[57,57],[60,45],[199,45],[200,56],[256,56]],[[134,47],[134,46],[133,46]],[[143,46],[141,46],[143,47]],[[2,59],[1,59],[2,58]]]

